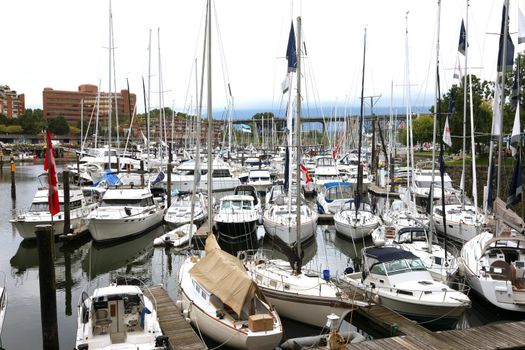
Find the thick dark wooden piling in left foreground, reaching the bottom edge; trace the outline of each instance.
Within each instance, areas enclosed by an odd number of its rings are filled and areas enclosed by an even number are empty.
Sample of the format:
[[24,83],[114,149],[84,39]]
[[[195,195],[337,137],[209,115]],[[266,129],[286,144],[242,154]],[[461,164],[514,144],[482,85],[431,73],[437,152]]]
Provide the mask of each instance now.
[[38,244],[42,349],[58,349],[55,237],[51,225],[37,225],[35,234]]

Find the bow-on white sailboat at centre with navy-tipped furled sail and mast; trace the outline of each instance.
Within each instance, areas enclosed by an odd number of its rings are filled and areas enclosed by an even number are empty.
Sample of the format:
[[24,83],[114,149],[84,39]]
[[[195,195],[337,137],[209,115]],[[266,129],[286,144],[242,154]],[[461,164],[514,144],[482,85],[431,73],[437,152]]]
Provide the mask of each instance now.
[[[312,210],[301,196],[301,75],[300,75],[300,57],[297,57],[295,48],[295,34],[293,23],[290,29],[287,48],[288,76],[286,83],[288,85],[288,110],[287,110],[287,128],[288,128],[288,148],[286,149],[285,159],[285,178],[283,193],[276,198],[271,205],[264,209],[263,225],[267,237],[277,241],[284,247],[293,248],[308,241],[311,241],[317,230],[317,213]],[[296,140],[297,147],[295,152],[296,159],[296,180],[293,183],[291,167],[291,148],[292,148],[292,85],[293,73],[297,71],[297,101],[296,101]],[[295,185],[295,186],[294,186]],[[295,188],[294,188],[295,187]],[[300,233],[300,234],[299,234]],[[294,248],[295,249],[295,248]]]

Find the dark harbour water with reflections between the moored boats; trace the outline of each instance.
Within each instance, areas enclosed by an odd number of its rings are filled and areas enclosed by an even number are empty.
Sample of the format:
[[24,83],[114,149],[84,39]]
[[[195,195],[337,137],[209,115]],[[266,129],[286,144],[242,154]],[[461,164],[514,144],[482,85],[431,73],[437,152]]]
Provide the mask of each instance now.
[[[36,242],[22,241],[9,219],[17,211],[29,207],[37,189],[36,176],[42,164],[17,166],[17,198],[11,199],[10,173],[4,168],[0,175],[0,196],[4,206],[0,211],[0,271],[6,274],[9,296],[7,315],[2,332],[6,349],[42,348],[40,298],[38,282],[38,251]],[[89,236],[76,242],[56,244],[57,316],[60,347],[72,349],[77,327],[76,306],[83,290],[92,290],[114,281],[118,276],[134,276],[148,285],[162,283],[172,299],[178,295],[177,274],[185,256],[173,249],[153,247],[153,239],[164,232],[163,227],[135,239],[111,246],[97,246]],[[362,242],[352,242],[335,235],[331,226],[319,225],[317,240],[306,247],[303,261],[307,268],[329,269],[332,276],[351,265]],[[368,240],[366,245],[370,245]],[[271,249],[271,243],[265,243]],[[282,258],[285,258],[283,255]],[[473,308],[468,310],[464,326],[477,326],[502,320],[521,320],[523,315],[503,312],[479,297],[471,295]],[[318,334],[318,330],[283,320],[286,337]],[[208,342],[213,347],[212,342]]]

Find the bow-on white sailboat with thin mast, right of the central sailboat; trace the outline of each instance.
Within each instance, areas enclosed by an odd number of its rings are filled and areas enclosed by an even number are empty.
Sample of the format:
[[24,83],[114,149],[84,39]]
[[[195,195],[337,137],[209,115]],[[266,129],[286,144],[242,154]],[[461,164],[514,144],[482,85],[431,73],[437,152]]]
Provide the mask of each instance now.
[[366,29],[363,48],[363,76],[361,81],[361,114],[359,117],[359,145],[357,171],[357,190],[353,200],[348,201],[337,213],[334,214],[334,224],[337,233],[351,238],[364,238],[369,236],[379,225],[379,217],[374,215],[370,206],[361,203],[363,167],[361,165],[361,144],[363,138],[363,111],[364,111],[364,88],[365,88],[365,58],[366,58]]

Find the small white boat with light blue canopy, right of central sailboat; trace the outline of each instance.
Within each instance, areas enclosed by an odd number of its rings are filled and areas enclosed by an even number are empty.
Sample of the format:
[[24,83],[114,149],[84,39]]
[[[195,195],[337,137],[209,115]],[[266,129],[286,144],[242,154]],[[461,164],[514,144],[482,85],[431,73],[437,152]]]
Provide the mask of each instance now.
[[354,198],[354,190],[351,183],[327,182],[317,191],[317,212],[333,215],[352,198]]

